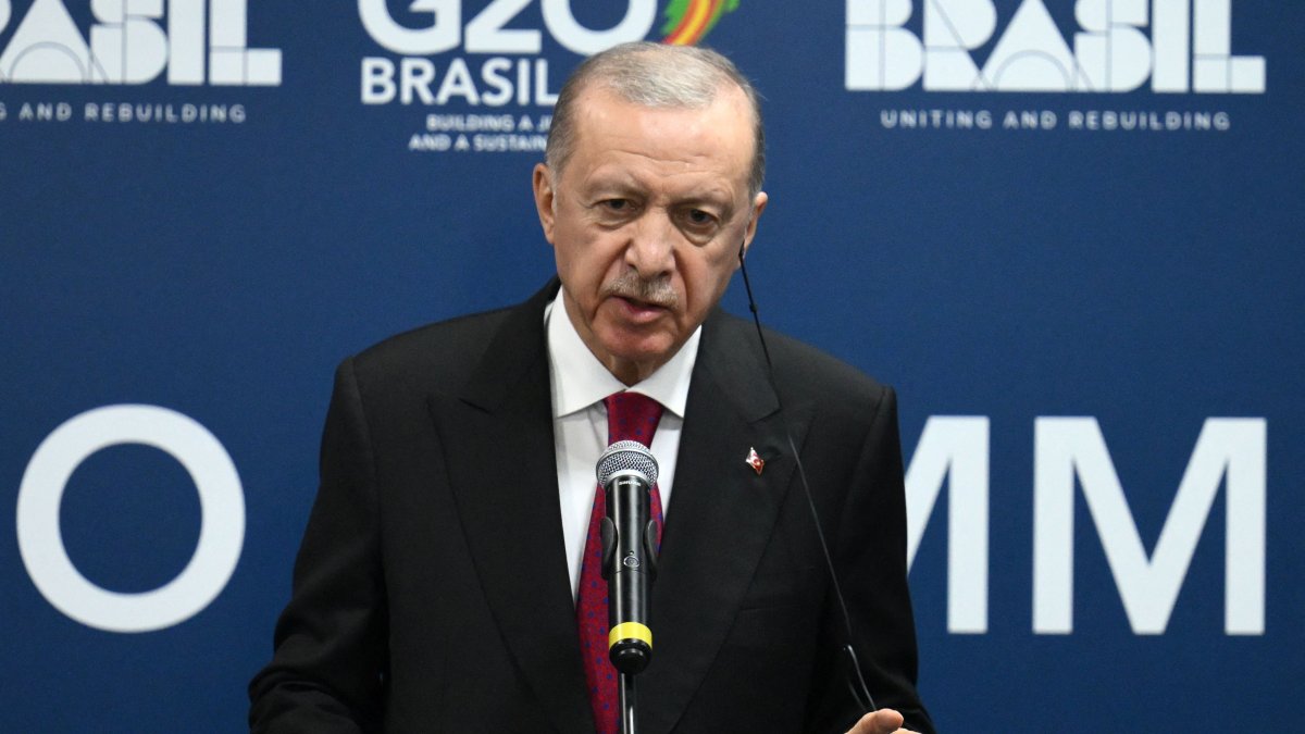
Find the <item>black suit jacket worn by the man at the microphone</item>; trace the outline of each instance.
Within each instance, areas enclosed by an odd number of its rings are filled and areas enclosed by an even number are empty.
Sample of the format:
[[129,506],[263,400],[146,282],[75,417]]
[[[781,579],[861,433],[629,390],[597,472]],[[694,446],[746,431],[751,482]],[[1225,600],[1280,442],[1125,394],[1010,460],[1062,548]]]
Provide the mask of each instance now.
[[[346,360],[256,731],[594,730],[562,547],[543,308],[401,334]],[[894,394],[810,347],[703,327],[652,588],[646,734],[843,731],[857,717],[814,503],[880,705],[915,691]],[[756,448],[758,475],[745,461]]]

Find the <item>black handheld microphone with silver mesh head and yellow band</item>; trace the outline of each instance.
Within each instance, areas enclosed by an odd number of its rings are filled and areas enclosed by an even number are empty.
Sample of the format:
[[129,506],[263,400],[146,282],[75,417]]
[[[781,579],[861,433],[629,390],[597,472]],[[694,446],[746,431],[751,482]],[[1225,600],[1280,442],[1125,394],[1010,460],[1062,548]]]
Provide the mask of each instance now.
[[649,597],[656,577],[656,522],[650,492],[656,460],[638,441],[616,441],[598,460],[598,483],[607,492],[603,517],[603,577],[607,579],[607,654],[616,670],[633,675],[652,660]]

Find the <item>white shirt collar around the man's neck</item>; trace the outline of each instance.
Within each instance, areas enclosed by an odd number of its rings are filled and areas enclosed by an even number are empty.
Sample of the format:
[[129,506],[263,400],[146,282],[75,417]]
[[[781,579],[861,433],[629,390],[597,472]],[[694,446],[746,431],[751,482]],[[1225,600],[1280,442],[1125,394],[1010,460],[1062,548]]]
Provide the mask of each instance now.
[[553,385],[553,418],[561,418],[603,400],[604,397],[629,389],[643,393],[662,404],[679,418],[684,418],[684,407],[689,400],[689,377],[698,358],[698,342],[702,341],[702,327],[693,334],[680,351],[666,364],[641,383],[625,387],[617,380],[594,353],[585,346],[576,325],[566,317],[561,304],[561,291],[544,308],[544,324],[548,332],[548,363]]

